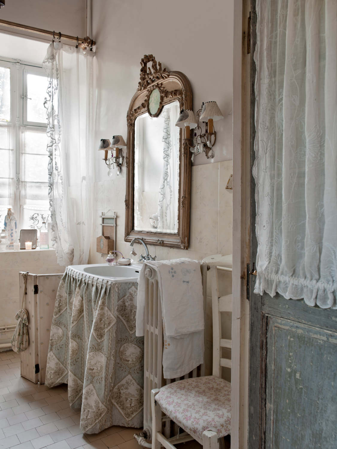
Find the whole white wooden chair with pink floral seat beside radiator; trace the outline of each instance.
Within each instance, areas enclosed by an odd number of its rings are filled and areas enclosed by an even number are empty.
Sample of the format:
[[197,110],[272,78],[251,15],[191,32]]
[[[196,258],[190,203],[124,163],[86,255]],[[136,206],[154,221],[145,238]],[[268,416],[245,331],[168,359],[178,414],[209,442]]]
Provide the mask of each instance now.
[[[210,257],[213,260],[206,258],[203,262],[211,269],[213,374],[179,380],[151,391],[152,449],[160,449],[161,445],[175,449],[175,444],[190,440],[197,440],[204,449],[218,449],[218,438],[231,431],[231,384],[221,379],[221,366],[231,367],[231,361],[220,357],[220,348],[231,348],[232,341],[221,339],[220,313],[232,311],[232,295],[219,297],[217,274],[217,267],[228,267],[229,263],[228,256],[222,260],[221,256]],[[184,432],[166,438],[162,434],[162,422],[170,419]]]

